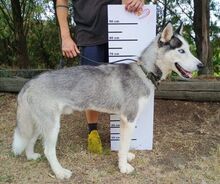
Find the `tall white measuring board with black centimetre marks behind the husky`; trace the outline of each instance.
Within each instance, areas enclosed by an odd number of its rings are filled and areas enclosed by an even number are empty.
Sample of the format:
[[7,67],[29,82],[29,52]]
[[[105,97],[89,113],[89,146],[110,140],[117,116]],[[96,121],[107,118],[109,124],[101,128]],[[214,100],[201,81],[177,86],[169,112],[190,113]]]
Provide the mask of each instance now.
[[[109,62],[137,59],[156,36],[156,6],[145,5],[137,16],[124,5],[108,5]],[[126,62],[128,63],[128,62]],[[132,105],[132,104],[131,104]],[[151,150],[153,147],[154,94],[137,121],[130,149]],[[120,118],[110,115],[111,150],[119,149]]]

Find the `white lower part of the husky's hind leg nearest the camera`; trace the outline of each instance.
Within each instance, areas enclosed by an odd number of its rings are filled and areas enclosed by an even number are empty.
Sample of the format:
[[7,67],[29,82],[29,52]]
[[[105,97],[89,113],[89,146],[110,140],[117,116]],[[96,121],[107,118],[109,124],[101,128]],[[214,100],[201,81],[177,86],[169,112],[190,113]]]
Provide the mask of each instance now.
[[72,172],[64,169],[56,156],[56,143],[60,130],[60,117],[57,116],[55,121],[47,122],[48,127],[44,127],[43,138],[44,138],[44,153],[50,166],[58,179],[68,179],[71,177]]

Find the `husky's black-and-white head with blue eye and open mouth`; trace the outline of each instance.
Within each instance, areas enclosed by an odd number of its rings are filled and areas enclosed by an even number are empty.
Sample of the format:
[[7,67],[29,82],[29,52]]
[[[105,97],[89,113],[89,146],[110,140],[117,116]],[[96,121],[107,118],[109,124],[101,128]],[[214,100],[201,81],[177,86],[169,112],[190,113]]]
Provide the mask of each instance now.
[[203,64],[192,55],[189,44],[182,36],[183,26],[174,32],[171,23],[168,23],[158,35],[156,65],[162,71],[164,79],[172,71],[182,78],[191,78],[192,72],[199,70]]

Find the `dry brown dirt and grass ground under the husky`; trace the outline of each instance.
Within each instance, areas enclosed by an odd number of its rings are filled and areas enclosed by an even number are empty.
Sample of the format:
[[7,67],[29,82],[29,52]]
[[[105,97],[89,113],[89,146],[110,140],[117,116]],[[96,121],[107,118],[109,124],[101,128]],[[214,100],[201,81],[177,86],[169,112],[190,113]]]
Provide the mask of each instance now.
[[[155,102],[154,148],[135,151],[136,168],[119,173],[117,154],[110,152],[108,115],[100,117],[99,132],[104,154],[86,151],[87,125],[84,113],[62,117],[57,155],[73,171],[69,181],[53,177],[45,157],[27,161],[11,153],[15,127],[16,95],[0,93],[0,183],[193,183],[220,181],[220,103],[185,101]],[[41,141],[36,151],[43,154]]]

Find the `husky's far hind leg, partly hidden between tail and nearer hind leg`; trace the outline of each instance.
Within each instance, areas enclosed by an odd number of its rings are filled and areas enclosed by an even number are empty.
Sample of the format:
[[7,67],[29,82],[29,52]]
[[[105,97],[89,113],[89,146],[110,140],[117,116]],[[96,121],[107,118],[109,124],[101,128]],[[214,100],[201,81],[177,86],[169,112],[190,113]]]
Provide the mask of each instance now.
[[28,160],[36,160],[36,159],[40,158],[40,156],[41,156],[39,153],[34,152],[34,145],[35,145],[39,135],[40,135],[40,132],[37,129],[35,129],[33,132],[32,138],[30,139],[30,141],[27,144],[25,152],[26,152],[26,156],[27,156]]

